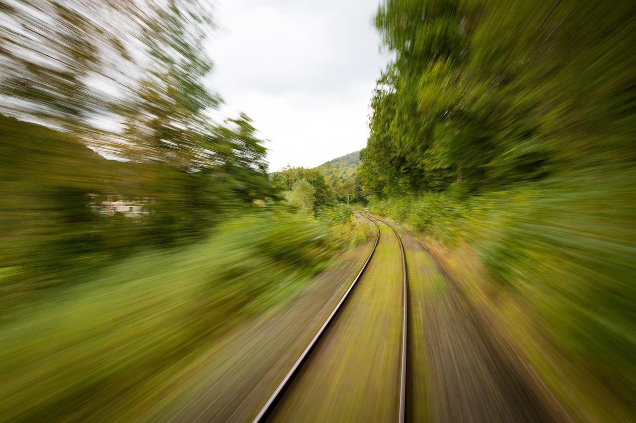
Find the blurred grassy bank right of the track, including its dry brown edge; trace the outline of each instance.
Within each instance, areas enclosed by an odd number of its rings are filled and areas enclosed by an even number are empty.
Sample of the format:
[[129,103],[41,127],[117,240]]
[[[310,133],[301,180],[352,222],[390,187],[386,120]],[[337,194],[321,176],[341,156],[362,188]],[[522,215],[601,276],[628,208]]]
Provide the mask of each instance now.
[[579,420],[634,417],[635,175],[616,174],[370,204],[443,249]]

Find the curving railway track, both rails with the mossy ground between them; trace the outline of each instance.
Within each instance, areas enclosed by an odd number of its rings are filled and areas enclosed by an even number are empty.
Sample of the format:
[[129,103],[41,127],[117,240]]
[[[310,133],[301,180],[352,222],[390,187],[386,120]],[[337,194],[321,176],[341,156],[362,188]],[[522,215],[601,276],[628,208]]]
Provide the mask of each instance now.
[[[288,420],[286,415],[294,415],[297,419],[298,410],[306,413],[301,420],[324,420],[338,412],[341,401],[348,404],[342,407],[341,412],[350,413],[340,414],[341,420],[366,421],[369,416],[354,415],[356,406],[351,405],[353,402],[366,407],[366,401],[355,399],[368,400],[364,396],[369,394],[377,395],[374,401],[376,410],[371,411],[377,420],[384,421],[393,415],[391,420],[404,422],[408,335],[406,256],[394,227],[380,218],[363,216],[377,229],[370,254],[342,299],[280,380],[252,423],[285,421]],[[378,222],[391,228],[393,240],[386,230],[380,229]],[[397,260],[396,245],[399,245],[401,260]],[[374,258],[378,254],[381,257]],[[396,269],[386,267],[387,256],[391,256],[394,263],[401,261],[401,284],[397,283],[400,278]],[[379,295],[375,295],[376,291]],[[372,300],[370,295],[379,299]],[[401,309],[396,311],[399,306]],[[365,329],[360,327],[363,321],[367,322]],[[377,326],[369,327],[376,323]],[[347,352],[343,351],[351,349],[357,351],[347,359]],[[391,359],[387,360],[387,357]],[[387,368],[387,361],[397,363]],[[349,398],[343,400],[343,396]]]

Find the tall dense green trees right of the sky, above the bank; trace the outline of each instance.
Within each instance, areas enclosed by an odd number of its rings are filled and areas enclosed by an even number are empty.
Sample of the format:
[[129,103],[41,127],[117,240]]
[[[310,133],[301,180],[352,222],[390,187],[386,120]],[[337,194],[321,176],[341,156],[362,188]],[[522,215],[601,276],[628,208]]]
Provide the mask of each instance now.
[[371,102],[366,189],[474,193],[631,166],[632,14],[626,1],[386,1],[376,25],[396,58]]

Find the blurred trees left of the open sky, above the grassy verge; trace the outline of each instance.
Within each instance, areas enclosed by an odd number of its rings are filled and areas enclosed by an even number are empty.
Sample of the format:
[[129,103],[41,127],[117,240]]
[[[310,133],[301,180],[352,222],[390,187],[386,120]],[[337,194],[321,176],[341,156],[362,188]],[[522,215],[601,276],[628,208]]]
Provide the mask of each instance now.
[[0,15],[4,296],[201,238],[274,196],[249,117],[209,117],[207,3],[29,0]]

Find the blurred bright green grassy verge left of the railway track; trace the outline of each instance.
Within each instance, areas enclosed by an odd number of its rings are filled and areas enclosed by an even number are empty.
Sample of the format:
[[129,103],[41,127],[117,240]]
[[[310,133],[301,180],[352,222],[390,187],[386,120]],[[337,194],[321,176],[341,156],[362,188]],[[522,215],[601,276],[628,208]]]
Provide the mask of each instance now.
[[228,328],[298,292],[339,248],[364,238],[355,229],[344,215],[336,224],[235,218],[197,245],[136,255],[47,293],[46,304],[0,326],[0,415],[80,419],[87,405],[156,389]]

